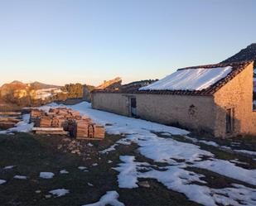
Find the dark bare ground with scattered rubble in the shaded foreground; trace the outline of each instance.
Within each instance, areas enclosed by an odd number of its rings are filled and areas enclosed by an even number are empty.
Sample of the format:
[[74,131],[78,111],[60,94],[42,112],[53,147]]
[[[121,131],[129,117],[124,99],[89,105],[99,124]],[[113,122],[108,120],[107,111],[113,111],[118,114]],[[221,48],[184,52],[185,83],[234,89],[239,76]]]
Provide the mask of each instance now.
[[[125,205],[199,205],[188,200],[184,194],[167,189],[157,180],[141,180],[146,182],[146,187],[119,189],[118,172],[113,169],[120,163],[119,156],[136,156],[138,161],[156,164],[141,156],[135,144],[119,145],[109,154],[99,153],[120,138],[122,136],[107,135],[104,141],[77,141],[69,137],[37,136],[30,133],[0,135],[0,180],[7,180],[0,185],[1,205],[84,205],[99,201],[110,190],[116,190],[120,195],[118,200]],[[178,136],[173,138],[187,141]],[[247,156],[210,146],[204,149],[222,159],[237,158],[248,162],[250,168],[256,168],[255,161]],[[11,170],[3,170],[7,165],[15,166]],[[87,169],[80,170],[79,166]],[[67,170],[69,174],[60,174],[60,170]],[[214,188],[239,183],[208,170],[193,167],[190,170],[205,175],[205,180]],[[49,180],[41,179],[40,172],[52,172],[55,176]],[[26,175],[27,180],[16,180],[14,175]],[[69,189],[70,194],[62,197],[49,195],[52,189],[62,188]]]

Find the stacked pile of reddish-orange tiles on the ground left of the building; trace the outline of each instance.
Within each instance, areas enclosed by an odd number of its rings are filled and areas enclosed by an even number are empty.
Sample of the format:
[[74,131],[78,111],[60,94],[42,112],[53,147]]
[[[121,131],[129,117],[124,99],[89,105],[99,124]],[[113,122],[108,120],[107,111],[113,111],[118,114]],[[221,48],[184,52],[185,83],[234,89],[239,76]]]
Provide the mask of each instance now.
[[77,139],[97,139],[105,137],[103,126],[87,116],[70,108],[51,108],[48,113],[35,109],[31,111],[31,122],[36,134],[70,135]]

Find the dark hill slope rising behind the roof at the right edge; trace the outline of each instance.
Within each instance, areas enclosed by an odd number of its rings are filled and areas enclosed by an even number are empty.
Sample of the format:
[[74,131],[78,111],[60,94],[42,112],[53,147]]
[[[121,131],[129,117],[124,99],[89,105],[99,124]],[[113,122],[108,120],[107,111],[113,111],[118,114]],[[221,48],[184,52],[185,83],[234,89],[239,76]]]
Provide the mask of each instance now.
[[[256,43],[253,43],[243,50],[240,50],[235,55],[232,55],[227,60],[222,61],[221,63],[231,63],[236,61],[244,60],[255,60],[256,61]],[[254,69],[256,69],[256,64],[254,62]]]

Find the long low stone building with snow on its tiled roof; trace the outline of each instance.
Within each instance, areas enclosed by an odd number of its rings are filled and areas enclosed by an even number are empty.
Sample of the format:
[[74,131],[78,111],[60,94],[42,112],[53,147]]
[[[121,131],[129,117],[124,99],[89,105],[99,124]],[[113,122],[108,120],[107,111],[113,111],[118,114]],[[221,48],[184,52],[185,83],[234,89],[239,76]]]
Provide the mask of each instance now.
[[256,134],[253,65],[188,67],[139,89],[94,90],[92,106],[215,137]]

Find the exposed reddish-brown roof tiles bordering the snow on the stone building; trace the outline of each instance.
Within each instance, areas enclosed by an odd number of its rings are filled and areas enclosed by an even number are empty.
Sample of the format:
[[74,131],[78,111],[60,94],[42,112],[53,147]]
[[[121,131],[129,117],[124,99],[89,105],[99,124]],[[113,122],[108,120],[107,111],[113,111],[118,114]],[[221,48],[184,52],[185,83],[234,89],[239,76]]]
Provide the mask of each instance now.
[[[151,94],[172,94],[172,95],[204,95],[209,96],[214,94],[216,91],[218,91],[222,86],[227,84],[231,79],[233,79],[237,74],[239,74],[244,68],[246,68],[250,63],[252,63],[253,60],[249,61],[242,61],[242,62],[232,62],[232,63],[226,63],[226,64],[216,64],[216,65],[200,65],[200,66],[192,66],[192,67],[186,67],[182,69],[213,69],[217,67],[225,67],[225,66],[231,66],[232,70],[231,72],[225,76],[225,78],[220,79],[215,84],[212,84],[207,89],[202,90],[138,90],[138,88],[134,89],[132,92],[125,92],[125,91],[112,91],[110,93],[151,93]],[[178,70],[182,70],[178,69]],[[96,90],[94,92],[99,93],[109,93],[109,91],[106,90]]]

